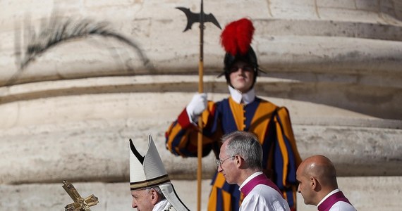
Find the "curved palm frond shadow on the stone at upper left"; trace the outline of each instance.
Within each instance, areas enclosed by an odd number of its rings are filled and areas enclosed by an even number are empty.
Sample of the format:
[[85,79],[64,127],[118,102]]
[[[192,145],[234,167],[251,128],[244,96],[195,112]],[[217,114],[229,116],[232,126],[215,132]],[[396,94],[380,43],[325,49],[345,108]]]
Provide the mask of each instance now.
[[[16,82],[18,77],[23,71],[32,63],[35,58],[42,55],[45,51],[53,48],[54,46],[69,41],[72,39],[85,38],[91,35],[98,35],[101,37],[111,37],[127,44],[140,57],[142,64],[147,70],[154,70],[152,63],[147,58],[145,53],[140,49],[140,46],[135,41],[124,37],[118,32],[114,32],[109,28],[109,23],[95,22],[93,20],[72,20],[71,18],[49,18],[49,21],[42,21],[39,33],[36,34],[30,25],[25,26],[28,31],[28,44],[24,46],[23,53],[20,52],[20,43],[16,41],[16,63],[18,65],[17,72],[6,82],[6,85]],[[16,30],[16,39],[20,39]]]

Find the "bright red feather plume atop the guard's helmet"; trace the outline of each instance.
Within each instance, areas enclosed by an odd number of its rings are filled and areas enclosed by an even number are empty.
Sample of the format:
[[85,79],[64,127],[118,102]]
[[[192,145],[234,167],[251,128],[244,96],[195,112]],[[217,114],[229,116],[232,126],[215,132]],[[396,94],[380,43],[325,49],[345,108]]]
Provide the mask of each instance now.
[[222,32],[221,45],[232,56],[236,56],[238,53],[243,55],[250,49],[254,30],[251,20],[247,18],[233,21],[226,25]]

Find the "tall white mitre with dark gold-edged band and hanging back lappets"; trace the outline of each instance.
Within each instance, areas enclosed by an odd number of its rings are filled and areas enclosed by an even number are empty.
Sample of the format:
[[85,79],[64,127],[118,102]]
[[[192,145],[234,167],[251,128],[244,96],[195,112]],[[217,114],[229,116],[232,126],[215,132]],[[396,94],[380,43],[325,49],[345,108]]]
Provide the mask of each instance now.
[[166,199],[154,206],[153,211],[178,210],[187,211],[183,202],[178,198],[173,184],[169,179],[157,148],[148,136],[148,148],[144,156],[135,148],[130,139],[130,189],[137,191],[159,186]]

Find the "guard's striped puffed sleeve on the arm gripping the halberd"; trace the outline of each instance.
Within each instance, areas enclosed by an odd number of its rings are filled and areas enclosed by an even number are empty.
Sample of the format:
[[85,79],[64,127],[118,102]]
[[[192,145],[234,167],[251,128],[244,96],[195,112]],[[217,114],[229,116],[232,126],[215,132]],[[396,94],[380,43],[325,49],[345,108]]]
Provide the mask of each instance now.
[[[208,102],[207,109],[202,113],[202,156],[206,156],[216,148],[217,133],[217,114],[215,103]],[[174,155],[182,157],[197,156],[197,134],[200,131],[197,125],[190,122],[190,117],[184,109],[178,119],[171,123],[165,133],[166,148]]]

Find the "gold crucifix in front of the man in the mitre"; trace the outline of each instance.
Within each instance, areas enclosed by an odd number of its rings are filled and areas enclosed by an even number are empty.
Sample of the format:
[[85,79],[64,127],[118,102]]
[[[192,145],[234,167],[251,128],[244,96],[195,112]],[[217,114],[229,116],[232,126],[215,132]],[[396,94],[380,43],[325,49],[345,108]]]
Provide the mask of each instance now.
[[73,184],[66,180],[63,180],[63,188],[68,193],[68,196],[74,200],[74,203],[64,207],[66,211],[90,211],[90,207],[99,203],[98,198],[94,196],[94,194],[88,196],[87,198],[82,198],[80,193],[78,193],[78,191],[74,188]]

